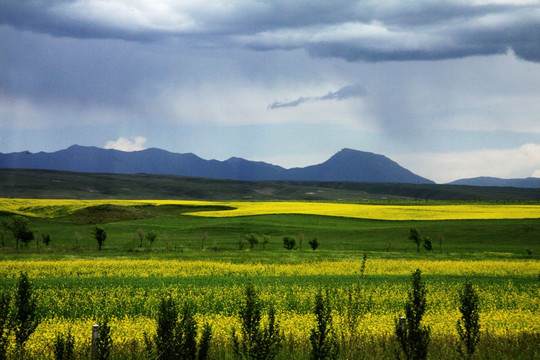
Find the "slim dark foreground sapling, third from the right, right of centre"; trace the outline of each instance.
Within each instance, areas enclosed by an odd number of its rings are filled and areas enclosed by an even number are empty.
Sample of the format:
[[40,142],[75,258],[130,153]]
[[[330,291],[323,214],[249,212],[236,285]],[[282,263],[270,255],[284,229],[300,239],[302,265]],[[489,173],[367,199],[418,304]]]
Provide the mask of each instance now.
[[339,348],[332,329],[332,309],[328,294],[323,297],[319,291],[315,295],[315,318],[317,324],[311,329],[309,343],[311,344],[312,360],[336,359]]

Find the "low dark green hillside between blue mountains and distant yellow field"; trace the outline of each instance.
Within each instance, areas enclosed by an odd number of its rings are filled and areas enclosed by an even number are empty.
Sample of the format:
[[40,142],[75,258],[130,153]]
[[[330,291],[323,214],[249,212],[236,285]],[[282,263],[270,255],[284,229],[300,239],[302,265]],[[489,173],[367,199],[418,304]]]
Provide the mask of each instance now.
[[540,189],[329,181],[239,181],[178,175],[0,169],[0,198],[539,201]]

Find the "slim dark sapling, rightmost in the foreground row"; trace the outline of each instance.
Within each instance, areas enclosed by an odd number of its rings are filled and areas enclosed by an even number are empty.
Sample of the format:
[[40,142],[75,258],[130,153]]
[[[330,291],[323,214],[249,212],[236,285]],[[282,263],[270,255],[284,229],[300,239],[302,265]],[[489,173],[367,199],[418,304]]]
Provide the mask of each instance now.
[[[459,293],[459,303],[461,317],[457,322],[457,331],[461,346],[458,347],[458,351],[462,356],[466,355],[470,359],[480,339],[480,316],[478,313],[478,294],[469,280],[465,282]],[[465,354],[462,347],[465,347]]]

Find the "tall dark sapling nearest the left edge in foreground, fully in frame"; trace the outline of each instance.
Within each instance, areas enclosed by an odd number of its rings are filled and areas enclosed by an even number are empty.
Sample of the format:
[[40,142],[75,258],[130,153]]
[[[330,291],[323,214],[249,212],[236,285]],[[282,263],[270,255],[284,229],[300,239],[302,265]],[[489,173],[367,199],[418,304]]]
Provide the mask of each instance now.
[[32,294],[32,285],[25,273],[21,273],[15,296],[15,308],[13,314],[13,329],[15,343],[19,350],[23,350],[24,344],[36,330],[39,324],[36,311],[36,302]]

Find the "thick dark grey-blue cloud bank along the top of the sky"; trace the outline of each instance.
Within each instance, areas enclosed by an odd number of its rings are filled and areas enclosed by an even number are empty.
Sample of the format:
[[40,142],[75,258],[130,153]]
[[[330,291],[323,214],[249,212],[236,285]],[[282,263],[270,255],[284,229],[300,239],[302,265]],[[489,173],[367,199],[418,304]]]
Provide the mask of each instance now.
[[[500,2],[497,2],[500,3]],[[471,1],[0,2],[0,23],[76,38],[305,49],[348,61],[505,53],[540,61],[540,4]],[[159,6],[157,6],[159,5]]]

